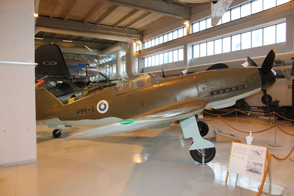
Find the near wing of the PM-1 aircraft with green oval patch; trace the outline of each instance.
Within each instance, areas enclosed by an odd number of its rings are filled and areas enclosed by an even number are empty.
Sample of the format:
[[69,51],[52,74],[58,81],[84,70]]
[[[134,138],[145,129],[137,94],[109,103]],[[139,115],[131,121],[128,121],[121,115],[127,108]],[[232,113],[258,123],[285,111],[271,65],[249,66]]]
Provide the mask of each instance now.
[[83,139],[108,134],[117,134],[170,123],[176,120],[191,117],[193,115],[198,114],[199,112],[202,112],[203,109],[206,108],[206,104],[206,100],[180,102],[171,105],[170,107],[163,107],[163,109],[160,109],[161,111],[155,110],[157,111],[157,113],[148,114],[141,117],[127,119],[88,129],[86,131],[82,131],[77,134],[66,137],[63,140]]

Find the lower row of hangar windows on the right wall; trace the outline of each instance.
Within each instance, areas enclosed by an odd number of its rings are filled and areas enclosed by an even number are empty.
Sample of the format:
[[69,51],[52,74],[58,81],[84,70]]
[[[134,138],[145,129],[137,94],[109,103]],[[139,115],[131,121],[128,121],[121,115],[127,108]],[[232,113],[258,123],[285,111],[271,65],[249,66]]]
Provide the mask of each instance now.
[[[286,41],[286,22],[247,31],[232,36],[192,45],[193,57],[205,57],[225,52],[233,52],[258,46],[276,44]],[[143,58],[144,67],[182,61],[184,49],[156,54]]]

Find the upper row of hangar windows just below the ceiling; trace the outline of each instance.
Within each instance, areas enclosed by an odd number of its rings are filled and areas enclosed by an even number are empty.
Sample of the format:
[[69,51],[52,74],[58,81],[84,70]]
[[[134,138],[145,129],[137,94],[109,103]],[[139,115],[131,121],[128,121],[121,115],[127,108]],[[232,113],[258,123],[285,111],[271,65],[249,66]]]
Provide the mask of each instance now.
[[[287,3],[289,0],[252,0],[245,2],[239,6],[235,6],[231,9],[228,9],[223,17],[220,19],[217,25],[224,24],[233,20],[237,20],[251,14],[258,13],[260,11],[273,8],[275,6],[279,6],[281,4]],[[205,29],[209,29],[211,26],[211,16],[196,21],[191,24],[192,33],[196,33],[198,31],[202,31]],[[155,38],[143,42],[143,49],[150,48],[152,46],[156,46],[158,44],[162,44],[167,41],[171,41],[173,39],[177,39],[183,36],[186,36],[186,26],[180,27],[173,31],[167,32]],[[139,50],[139,45],[136,45],[136,51]]]

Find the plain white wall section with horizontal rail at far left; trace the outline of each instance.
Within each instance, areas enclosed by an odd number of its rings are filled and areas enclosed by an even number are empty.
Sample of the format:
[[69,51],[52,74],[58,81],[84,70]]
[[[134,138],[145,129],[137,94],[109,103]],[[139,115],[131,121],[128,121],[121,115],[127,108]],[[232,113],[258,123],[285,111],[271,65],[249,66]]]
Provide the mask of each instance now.
[[[0,1],[0,165],[35,161],[34,0]],[[24,64],[31,63],[31,64]]]

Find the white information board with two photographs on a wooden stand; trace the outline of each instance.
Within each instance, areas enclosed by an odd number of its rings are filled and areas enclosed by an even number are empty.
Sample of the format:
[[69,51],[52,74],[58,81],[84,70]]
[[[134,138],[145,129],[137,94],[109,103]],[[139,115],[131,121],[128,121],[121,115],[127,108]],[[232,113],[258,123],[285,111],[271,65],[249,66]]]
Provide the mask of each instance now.
[[262,180],[267,153],[267,147],[233,142],[228,172]]

